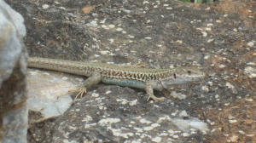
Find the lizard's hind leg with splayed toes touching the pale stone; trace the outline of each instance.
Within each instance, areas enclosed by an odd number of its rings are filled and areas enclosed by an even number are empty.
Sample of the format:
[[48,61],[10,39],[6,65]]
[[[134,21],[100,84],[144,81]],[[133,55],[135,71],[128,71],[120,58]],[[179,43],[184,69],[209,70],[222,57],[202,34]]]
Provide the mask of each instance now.
[[80,97],[82,98],[82,95],[86,93],[86,89],[90,88],[91,85],[100,83],[102,81],[102,76],[98,72],[93,72],[91,77],[87,78],[84,81],[84,86],[80,87],[79,89],[74,89],[72,92],[78,91],[79,94],[76,95],[76,97],[73,100],[73,103],[77,100],[77,98]]

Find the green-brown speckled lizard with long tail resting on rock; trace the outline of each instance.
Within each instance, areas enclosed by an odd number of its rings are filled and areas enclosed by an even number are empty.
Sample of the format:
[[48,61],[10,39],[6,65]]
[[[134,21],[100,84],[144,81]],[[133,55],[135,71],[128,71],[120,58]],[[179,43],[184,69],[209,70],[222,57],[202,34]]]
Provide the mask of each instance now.
[[28,57],[27,66],[33,68],[47,69],[58,72],[67,72],[88,77],[84,86],[79,89],[75,100],[86,93],[86,89],[97,83],[116,84],[119,86],[145,89],[148,100],[163,101],[164,98],[154,96],[155,90],[169,89],[184,83],[192,83],[206,77],[196,67],[175,67],[166,69],[128,68],[114,66],[104,63],[88,63],[71,60],[55,60],[46,58]]

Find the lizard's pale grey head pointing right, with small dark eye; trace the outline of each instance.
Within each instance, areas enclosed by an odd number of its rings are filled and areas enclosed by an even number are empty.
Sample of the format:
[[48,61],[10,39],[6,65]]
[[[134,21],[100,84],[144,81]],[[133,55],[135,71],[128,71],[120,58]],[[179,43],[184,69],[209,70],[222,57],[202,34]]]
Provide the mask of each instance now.
[[169,89],[173,86],[181,85],[184,83],[192,83],[199,81],[206,77],[205,72],[201,72],[200,69],[195,67],[177,67],[168,73],[168,76],[161,78],[160,82]]

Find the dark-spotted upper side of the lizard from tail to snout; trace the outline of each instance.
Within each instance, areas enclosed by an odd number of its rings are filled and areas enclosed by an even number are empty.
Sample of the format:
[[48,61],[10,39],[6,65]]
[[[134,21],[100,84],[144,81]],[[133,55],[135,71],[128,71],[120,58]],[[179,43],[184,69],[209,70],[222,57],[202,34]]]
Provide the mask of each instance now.
[[137,80],[142,82],[149,80],[174,79],[173,75],[175,75],[175,78],[178,77],[178,75],[182,75],[183,77],[190,76],[191,78],[191,76],[201,73],[197,68],[193,67],[177,67],[173,69],[124,68],[102,63],[86,63],[44,58],[29,58],[28,66],[68,72],[86,77],[90,77],[92,72],[98,72],[102,75],[102,78],[106,79],[131,79],[131,81]]

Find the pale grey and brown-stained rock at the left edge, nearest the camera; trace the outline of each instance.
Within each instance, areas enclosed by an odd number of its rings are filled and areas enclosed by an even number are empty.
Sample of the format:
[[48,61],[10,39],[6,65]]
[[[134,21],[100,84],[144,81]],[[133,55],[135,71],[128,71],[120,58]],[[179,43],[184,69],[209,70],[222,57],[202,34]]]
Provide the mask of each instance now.
[[26,35],[24,19],[0,0],[0,142],[25,143]]

